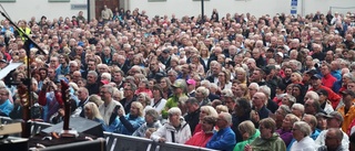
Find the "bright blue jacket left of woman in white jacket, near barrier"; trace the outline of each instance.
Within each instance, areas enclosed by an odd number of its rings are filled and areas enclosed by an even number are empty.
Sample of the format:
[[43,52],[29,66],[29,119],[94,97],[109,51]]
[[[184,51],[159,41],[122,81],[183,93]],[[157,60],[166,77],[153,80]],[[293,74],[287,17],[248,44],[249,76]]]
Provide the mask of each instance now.
[[115,132],[132,136],[144,123],[143,117],[132,117],[130,114],[120,117],[120,123]]

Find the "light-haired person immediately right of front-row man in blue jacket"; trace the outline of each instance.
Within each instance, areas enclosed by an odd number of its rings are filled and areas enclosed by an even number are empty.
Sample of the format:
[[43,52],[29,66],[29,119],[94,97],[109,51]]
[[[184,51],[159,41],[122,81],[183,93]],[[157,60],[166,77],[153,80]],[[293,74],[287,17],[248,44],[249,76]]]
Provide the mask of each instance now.
[[255,126],[252,121],[245,120],[237,126],[239,131],[243,136],[243,141],[239,141],[233,151],[244,151],[246,144],[252,143],[257,137],[260,137],[258,129],[255,129]]

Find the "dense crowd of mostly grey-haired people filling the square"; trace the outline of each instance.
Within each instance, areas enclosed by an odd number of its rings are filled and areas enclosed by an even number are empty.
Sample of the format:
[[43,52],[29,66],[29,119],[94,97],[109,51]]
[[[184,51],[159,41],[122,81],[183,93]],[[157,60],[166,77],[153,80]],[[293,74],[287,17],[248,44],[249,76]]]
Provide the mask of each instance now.
[[31,118],[44,122],[68,114],[62,82],[71,116],[109,132],[223,151],[355,150],[353,13],[102,13],[1,21],[0,68],[23,63],[0,82],[1,116],[22,118],[13,84],[30,71]]

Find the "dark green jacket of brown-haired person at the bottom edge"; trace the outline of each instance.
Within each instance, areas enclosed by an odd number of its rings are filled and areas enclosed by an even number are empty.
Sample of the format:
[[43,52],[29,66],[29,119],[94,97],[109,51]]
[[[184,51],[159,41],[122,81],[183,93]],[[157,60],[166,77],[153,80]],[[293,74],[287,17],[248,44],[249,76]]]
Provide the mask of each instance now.
[[253,151],[286,151],[285,142],[276,132],[274,132],[273,136],[267,140],[257,137],[251,143],[251,145],[253,148]]

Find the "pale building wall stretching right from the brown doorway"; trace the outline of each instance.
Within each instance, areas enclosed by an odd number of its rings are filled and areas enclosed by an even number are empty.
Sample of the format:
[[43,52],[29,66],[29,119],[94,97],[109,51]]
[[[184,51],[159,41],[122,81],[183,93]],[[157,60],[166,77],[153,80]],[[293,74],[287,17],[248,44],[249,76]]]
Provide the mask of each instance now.
[[[175,13],[178,18],[183,15],[197,15],[201,14],[201,1],[193,0],[166,0],[164,2],[148,2],[149,0],[130,0],[130,9],[139,8],[146,10],[149,17],[155,14],[163,15]],[[354,0],[298,0],[297,12],[302,14],[314,13],[317,10],[326,13],[329,7],[354,7],[352,10],[355,12]],[[276,13],[290,13],[291,0],[205,0],[204,12],[209,17],[213,9],[217,9],[221,17],[226,13],[246,13],[250,12],[256,17],[262,14],[274,15]],[[348,10],[348,9],[347,9]],[[344,11],[345,10],[337,10]]]

